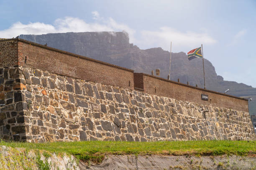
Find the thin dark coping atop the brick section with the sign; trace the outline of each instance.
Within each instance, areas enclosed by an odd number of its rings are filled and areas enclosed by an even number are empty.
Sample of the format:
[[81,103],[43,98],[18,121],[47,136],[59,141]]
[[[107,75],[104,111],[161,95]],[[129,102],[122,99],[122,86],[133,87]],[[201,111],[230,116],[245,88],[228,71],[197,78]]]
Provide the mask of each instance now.
[[[165,78],[157,77],[155,75],[149,75],[149,74],[146,74],[146,73],[139,73],[139,74],[142,74],[142,75],[145,75],[145,76],[148,76],[148,77],[152,77],[152,78],[156,78],[156,79],[159,79],[159,80],[164,80],[166,82],[172,82],[172,83],[177,84],[177,85],[183,85],[183,86],[190,87],[190,88],[193,88],[193,89],[202,90],[202,91],[205,91],[205,92],[212,92],[212,93],[215,93],[215,94],[218,94],[218,95],[225,95],[225,96],[237,98],[237,99],[240,99],[240,100],[246,100],[246,99],[243,99],[241,97],[236,97],[236,96],[228,95],[228,94],[221,93],[221,92],[216,92],[216,91],[207,90],[207,89],[203,89],[203,88],[200,88],[200,87],[195,87],[195,86],[192,86],[192,85],[183,84],[183,83],[172,81],[172,80],[167,80]],[[248,101],[248,100],[246,100],[246,101]]]

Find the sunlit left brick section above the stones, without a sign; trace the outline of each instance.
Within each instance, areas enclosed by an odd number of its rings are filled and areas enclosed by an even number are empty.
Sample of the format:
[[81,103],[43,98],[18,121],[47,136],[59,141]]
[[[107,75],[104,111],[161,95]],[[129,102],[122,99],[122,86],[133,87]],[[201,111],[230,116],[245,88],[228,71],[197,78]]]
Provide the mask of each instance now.
[[[133,70],[18,40],[20,66],[49,71],[106,85],[134,88]],[[25,63],[26,60],[26,63]]]

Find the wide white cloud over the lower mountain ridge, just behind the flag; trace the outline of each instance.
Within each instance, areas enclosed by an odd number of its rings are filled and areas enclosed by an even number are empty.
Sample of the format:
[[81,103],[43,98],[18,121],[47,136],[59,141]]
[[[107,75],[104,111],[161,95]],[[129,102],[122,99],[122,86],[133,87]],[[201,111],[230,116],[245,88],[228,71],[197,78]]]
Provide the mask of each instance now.
[[143,30],[141,32],[143,42],[151,43],[151,46],[162,47],[165,50],[170,49],[170,42],[175,46],[175,51],[184,51],[200,46],[201,44],[214,44],[217,41],[207,33],[181,32],[170,27],[161,27],[157,31]]

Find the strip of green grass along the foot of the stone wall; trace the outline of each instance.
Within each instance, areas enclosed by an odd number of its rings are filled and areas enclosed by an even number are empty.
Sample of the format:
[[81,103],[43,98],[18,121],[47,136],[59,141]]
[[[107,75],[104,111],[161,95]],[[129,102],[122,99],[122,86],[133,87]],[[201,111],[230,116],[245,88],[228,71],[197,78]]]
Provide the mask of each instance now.
[[55,142],[17,143],[0,141],[0,145],[13,148],[46,150],[51,153],[67,153],[80,160],[100,162],[104,155],[256,155],[256,141],[172,141],[172,142]]

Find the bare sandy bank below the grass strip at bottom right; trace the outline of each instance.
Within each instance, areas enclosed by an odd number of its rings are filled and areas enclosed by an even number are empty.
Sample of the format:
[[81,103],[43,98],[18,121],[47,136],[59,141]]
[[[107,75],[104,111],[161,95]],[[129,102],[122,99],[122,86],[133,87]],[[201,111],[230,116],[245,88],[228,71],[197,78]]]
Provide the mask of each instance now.
[[79,163],[80,170],[256,170],[256,157],[127,156],[109,155],[95,165]]

